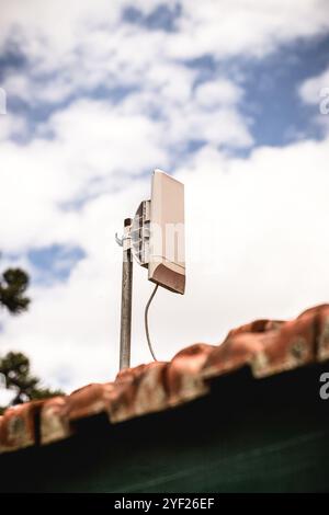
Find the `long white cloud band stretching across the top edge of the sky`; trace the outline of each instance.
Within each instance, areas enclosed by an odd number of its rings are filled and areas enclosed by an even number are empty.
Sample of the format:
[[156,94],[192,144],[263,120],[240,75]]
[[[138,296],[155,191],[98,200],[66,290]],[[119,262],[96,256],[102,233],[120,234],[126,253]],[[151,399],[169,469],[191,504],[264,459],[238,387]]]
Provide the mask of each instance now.
[[[150,13],[163,2],[139,0],[134,8]],[[157,83],[158,64],[212,55],[263,57],[282,44],[328,31],[326,0],[204,0],[191,7],[182,0],[177,31],[148,31],[122,20],[127,0],[3,0],[0,48],[9,42],[25,56],[29,69],[7,79],[9,94],[56,103],[97,87],[139,85],[141,78]],[[166,2],[174,8],[175,1]],[[60,27],[60,30],[58,28]],[[12,43],[13,44],[13,43]],[[58,73],[60,71],[60,73]],[[175,95],[175,91],[173,91]],[[178,91],[179,94],[179,91]]]

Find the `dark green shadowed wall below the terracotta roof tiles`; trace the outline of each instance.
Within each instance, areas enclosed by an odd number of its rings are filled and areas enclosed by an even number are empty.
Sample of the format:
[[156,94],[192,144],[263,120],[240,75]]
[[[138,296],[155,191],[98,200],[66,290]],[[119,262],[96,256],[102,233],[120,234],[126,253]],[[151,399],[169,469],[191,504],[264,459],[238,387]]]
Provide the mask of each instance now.
[[67,440],[0,456],[0,491],[329,491],[325,366],[217,379],[181,408],[111,425],[80,421]]

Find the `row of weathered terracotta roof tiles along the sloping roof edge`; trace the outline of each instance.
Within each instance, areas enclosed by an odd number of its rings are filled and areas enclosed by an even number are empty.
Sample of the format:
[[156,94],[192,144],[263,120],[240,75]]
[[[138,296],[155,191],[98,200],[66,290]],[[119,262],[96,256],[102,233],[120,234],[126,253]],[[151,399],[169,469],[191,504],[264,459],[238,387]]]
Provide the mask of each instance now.
[[292,321],[257,320],[230,331],[219,345],[197,343],[171,362],[121,371],[114,382],[70,396],[10,408],[0,417],[0,453],[67,438],[75,422],[105,413],[115,424],[189,402],[209,391],[209,378],[249,366],[256,378],[329,359],[329,305]]

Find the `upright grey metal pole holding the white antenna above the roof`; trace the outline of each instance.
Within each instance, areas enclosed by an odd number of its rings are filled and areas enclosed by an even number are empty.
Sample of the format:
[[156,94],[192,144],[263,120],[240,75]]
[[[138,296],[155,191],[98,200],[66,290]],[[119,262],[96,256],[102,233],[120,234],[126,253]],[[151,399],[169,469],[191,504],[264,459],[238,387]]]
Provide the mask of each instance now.
[[132,218],[124,221],[123,266],[122,266],[122,299],[121,299],[121,337],[120,337],[120,369],[131,366],[132,336],[132,297],[133,297],[133,256],[131,249]]

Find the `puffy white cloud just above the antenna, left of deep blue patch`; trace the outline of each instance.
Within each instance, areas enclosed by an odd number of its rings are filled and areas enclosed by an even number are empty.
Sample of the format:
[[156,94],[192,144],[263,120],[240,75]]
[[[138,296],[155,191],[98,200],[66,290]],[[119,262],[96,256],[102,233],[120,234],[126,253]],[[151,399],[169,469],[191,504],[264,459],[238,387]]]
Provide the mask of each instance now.
[[[193,75],[175,67],[157,67],[155,89],[146,87],[122,103],[124,113],[149,113],[162,121],[161,141],[172,148],[189,140],[204,140],[232,148],[249,147],[252,136],[248,121],[238,110],[241,88],[228,79],[192,87]],[[148,76],[146,76],[146,79]]]

